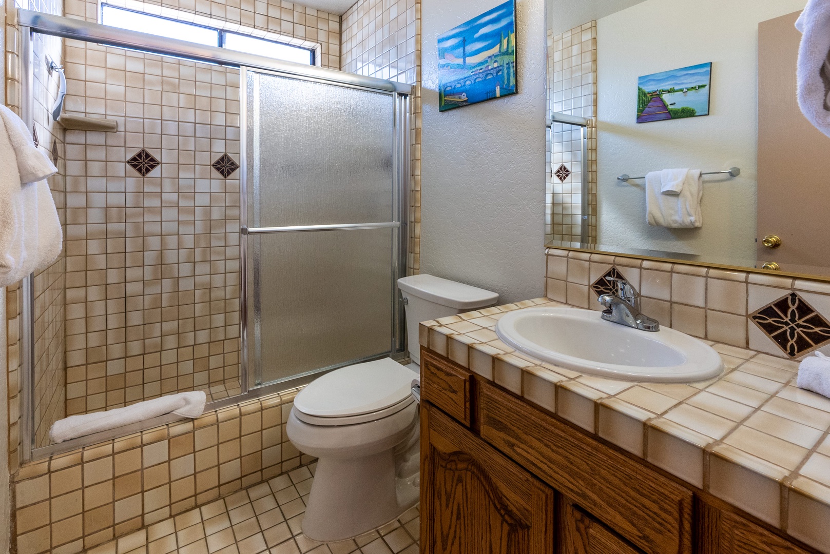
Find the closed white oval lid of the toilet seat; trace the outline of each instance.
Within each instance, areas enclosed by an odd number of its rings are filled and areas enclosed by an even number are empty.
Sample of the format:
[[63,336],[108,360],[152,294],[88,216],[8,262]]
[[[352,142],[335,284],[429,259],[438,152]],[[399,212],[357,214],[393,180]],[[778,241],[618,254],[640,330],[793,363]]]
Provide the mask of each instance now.
[[411,396],[417,373],[383,358],[341,367],[311,381],[294,399],[309,416],[359,416],[394,406]]

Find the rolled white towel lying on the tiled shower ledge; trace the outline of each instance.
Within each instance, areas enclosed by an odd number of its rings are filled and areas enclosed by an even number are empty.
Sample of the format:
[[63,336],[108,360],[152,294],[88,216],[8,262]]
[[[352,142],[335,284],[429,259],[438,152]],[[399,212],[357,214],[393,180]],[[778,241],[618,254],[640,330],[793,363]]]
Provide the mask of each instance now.
[[196,419],[205,409],[207,396],[203,391],[179,392],[153,400],[146,400],[115,410],[98,411],[94,414],[69,416],[57,420],[49,430],[49,438],[53,443],[64,440],[77,439],[85,435],[100,433],[115,429],[123,425],[138,423],[165,414],[190,417]]

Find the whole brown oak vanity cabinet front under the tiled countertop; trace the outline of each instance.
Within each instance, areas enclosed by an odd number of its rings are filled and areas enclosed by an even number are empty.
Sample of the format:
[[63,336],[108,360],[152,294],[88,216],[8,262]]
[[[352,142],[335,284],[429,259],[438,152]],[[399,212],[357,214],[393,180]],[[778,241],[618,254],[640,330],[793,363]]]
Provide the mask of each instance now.
[[422,554],[816,552],[426,348],[421,372]]

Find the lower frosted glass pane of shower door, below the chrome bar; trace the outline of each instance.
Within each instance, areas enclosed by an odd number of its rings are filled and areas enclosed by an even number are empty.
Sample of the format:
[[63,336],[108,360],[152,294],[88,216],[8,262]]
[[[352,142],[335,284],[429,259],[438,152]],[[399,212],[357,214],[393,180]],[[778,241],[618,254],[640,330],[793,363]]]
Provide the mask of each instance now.
[[389,352],[395,231],[249,237],[253,386]]

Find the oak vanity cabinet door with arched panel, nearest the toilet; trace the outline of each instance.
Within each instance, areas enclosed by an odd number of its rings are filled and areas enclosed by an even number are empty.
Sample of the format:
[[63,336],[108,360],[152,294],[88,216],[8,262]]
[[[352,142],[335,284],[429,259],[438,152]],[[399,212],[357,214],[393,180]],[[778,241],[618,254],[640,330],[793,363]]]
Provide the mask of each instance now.
[[425,403],[423,554],[551,554],[554,491]]

